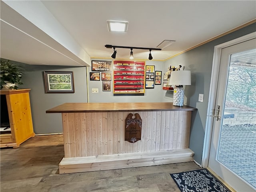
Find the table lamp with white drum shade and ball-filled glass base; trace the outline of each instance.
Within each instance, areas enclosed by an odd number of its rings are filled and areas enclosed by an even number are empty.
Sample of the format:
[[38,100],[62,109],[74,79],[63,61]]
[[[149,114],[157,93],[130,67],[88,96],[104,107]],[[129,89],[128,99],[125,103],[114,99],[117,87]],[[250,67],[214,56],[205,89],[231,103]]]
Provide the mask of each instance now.
[[183,85],[191,85],[190,71],[172,71],[169,85],[176,85],[173,92],[173,106],[182,107],[184,102]]

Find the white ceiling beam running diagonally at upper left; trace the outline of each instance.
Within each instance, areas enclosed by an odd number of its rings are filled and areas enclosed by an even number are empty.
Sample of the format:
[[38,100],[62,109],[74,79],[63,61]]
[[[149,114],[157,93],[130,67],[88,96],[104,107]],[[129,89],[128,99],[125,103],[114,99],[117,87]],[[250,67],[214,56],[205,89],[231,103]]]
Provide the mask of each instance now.
[[[30,24],[28,28],[23,23],[16,20],[17,17],[11,17],[10,12],[6,11],[6,14],[2,13],[2,8],[7,4],[15,10],[18,14],[26,18],[36,28]],[[15,19],[13,19],[15,18]],[[1,20],[19,28],[25,33],[29,33],[30,36],[38,39],[39,41],[48,44],[54,50],[58,50],[68,58],[76,60],[80,63],[80,66],[90,66],[90,56],[86,51],[72,38],[72,36],[66,31],[66,29],[56,20],[56,18],[50,13],[50,11],[42,4],[41,1],[1,1]],[[31,30],[33,28],[33,30]],[[37,29],[38,28],[38,29]],[[41,32],[40,32],[40,30]],[[44,32],[45,34],[42,34]],[[56,43],[57,42],[57,43]],[[71,52],[71,53],[70,53]],[[73,54],[73,55],[72,55]]]

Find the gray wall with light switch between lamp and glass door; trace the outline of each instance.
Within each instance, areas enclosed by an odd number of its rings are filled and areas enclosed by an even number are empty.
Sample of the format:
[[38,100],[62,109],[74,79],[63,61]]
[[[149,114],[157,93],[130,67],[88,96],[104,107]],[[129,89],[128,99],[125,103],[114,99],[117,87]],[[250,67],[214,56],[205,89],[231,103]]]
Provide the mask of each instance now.
[[[185,96],[188,98],[187,104],[189,106],[196,107],[198,111],[192,113],[190,149],[195,152],[194,159],[200,164],[202,162],[214,46],[255,32],[255,30],[256,23],[180,54],[170,60],[167,60],[164,64],[164,68],[168,68],[170,65],[182,65],[185,66],[185,70],[191,71],[192,85],[186,86]],[[198,94],[204,94],[204,102],[198,102]],[[172,94],[164,96],[170,97],[172,100]]]

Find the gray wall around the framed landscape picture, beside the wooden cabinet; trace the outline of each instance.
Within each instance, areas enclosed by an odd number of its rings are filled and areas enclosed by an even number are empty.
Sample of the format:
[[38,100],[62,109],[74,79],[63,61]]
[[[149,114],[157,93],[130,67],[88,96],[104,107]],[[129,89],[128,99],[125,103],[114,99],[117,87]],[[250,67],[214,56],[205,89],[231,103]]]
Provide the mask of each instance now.
[[[20,64],[18,62],[15,62]],[[87,102],[86,67],[39,66],[20,64],[24,68],[23,85],[30,88],[30,104],[36,134],[62,133],[61,114],[46,114],[46,110],[66,102]],[[43,71],[73,71],[74,93],[45,93]]]

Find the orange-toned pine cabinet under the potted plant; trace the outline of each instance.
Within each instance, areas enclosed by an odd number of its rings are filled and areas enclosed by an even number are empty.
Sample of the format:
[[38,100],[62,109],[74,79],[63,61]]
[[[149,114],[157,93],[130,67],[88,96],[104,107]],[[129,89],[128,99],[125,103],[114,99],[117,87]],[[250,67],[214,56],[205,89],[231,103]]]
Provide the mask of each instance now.
[[[18,148],[35,136],[30,108],[30,89],[0,90],[1,124],[10,124],[10,132],[0,134],[0,147]],[[2,125],[1,125],[2,126]]]

